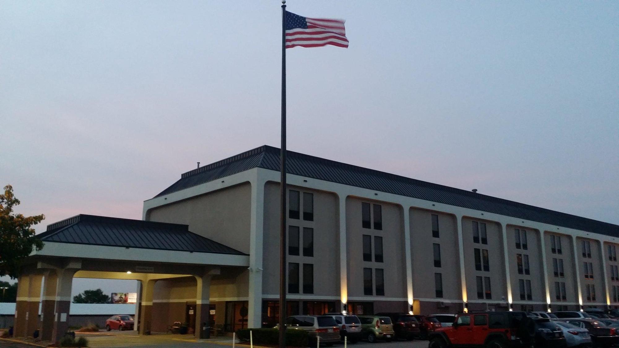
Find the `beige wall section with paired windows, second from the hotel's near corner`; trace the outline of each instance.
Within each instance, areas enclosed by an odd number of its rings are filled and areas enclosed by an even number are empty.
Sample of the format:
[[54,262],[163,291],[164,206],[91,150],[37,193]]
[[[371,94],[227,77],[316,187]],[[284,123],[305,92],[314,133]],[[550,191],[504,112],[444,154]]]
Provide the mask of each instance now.
[[[361,202],[381,204],[383,230],[361,226]],[[373,209],[370,211],[374,214]],[[403,215],[402,207],[396,204],[353,197],[346,199],[348,297],[365,296],[363,295],[363,268],[382,268],[384,269],[384,297],[407,298]],[[383,263],[363,261],[363,235],[383,237]],[[376,281],[376,279],[373,280]],[[368,296],[368,300],[379,300],[381,297]]]

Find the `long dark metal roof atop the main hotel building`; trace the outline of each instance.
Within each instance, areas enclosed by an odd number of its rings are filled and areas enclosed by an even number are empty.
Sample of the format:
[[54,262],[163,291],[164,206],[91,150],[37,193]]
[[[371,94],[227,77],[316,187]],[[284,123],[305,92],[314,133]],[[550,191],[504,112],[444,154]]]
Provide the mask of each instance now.
[[[157,194],[156,197],[206,183],[207,181],[217,180],[254,167],[279,172],[279,157],[280,149],[277,147],[261,146],[186,172],[181,175],[180,180],[163,190],[162,193]],[[619,237],[619,225],[587,219],[586,217],[565,214],[485,194],[473,193],[464,189],[428,183],[427,181],[406,178],[405,176],[379,172],[378,170],[356,165],[321,159],[298,152],[288,151],[287,159],[286,172],[294,175]]]

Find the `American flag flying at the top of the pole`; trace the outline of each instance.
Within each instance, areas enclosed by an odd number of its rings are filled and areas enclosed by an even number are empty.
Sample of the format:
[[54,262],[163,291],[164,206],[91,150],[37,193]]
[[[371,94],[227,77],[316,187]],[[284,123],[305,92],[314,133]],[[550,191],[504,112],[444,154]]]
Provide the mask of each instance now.
[[344,20],[306,18],[286,11],[286,48],[334,45],[348,47]]

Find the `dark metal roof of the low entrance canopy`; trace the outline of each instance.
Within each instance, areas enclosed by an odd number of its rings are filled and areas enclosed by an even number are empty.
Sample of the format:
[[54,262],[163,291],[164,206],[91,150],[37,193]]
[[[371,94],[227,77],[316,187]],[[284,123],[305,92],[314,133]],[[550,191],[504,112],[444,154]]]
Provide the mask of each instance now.
[[188,225],[80,214],[47,226],[43,241],[128,248],[245,255],[189,232]]

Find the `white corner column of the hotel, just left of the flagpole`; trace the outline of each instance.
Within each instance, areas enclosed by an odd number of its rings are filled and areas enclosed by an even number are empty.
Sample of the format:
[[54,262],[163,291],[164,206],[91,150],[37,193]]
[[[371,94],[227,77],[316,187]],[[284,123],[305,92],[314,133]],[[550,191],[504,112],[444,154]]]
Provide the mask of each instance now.
[[262,230],[264,228],[264,184],[260,170],[251,181],[251,222],[249,231],[248,328],[262,326]]

